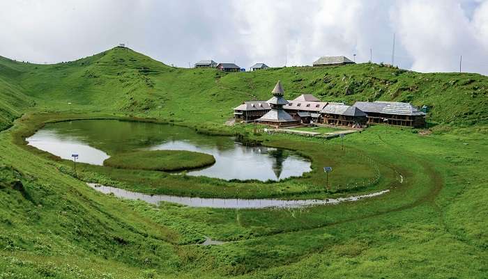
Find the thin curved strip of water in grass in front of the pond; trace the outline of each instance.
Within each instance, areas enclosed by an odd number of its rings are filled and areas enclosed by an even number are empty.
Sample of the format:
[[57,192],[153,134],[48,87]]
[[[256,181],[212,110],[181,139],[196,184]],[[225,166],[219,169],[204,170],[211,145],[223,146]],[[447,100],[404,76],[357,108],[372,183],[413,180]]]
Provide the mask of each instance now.
[[376,193],[369,193],[360,196],[351,196],[347,198],[329,198],[326,200],[271,200],[271,199],[238,199],[238,198],[190,198],[167,195],[147,195],[144,193],[131,192],[110,186],[87,183],[93,189],[102,193],[112,193],[119,198],[129,200],[144,200],[145,202],[158,205],[160,202],[174,202],[179,205],[189,207],[212,207],[227,209],[259,209],[267,207],[293,208],[293,207],[310,207],[314,205],[333,205],[340,202],[354,202],[362,198],[372,198],[388,193],[390,190],[383,190]]

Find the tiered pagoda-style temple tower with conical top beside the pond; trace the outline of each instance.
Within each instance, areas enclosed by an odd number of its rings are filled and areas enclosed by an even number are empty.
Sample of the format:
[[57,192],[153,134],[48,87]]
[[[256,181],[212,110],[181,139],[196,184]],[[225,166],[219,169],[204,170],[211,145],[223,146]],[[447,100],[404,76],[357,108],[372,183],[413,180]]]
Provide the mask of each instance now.
[[258,118],[257,122],[275,127],[297,125],[298,120],[293,119],[293,117],[283,109],[283,106],[289,104],[289,102],[283,97],[284,90],[280,81],[276,83],[275,89],[273,89],[271,93],[273,93],[273,97],[268,100],[271,110],[261,116],[261,118]]

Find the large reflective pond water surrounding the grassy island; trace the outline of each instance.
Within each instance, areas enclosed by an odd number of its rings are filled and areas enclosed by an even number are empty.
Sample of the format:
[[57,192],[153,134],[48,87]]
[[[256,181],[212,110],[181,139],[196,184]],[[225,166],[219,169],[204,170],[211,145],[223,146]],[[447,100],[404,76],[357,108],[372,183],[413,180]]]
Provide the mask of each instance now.
[[310,161],[279,148],[247,147],[229,136],[206,136],[174,125],[119,120],[48,123],[26,138],[29,145],[63,159],[102,165],[110,155],[133,150],[188,150],[212,154],[215,164],[188,175],[224,180],[282,180],[309,172]]

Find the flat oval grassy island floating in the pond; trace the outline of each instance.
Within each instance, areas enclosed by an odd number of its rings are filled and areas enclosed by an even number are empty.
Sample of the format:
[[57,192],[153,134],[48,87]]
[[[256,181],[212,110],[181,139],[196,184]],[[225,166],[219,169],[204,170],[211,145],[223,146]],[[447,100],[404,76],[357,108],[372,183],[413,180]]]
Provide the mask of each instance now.
[[191,170],[215,163],[211,154],[185,150],[141,150],[116,154],[103,161],[104,166],[131,170]]

